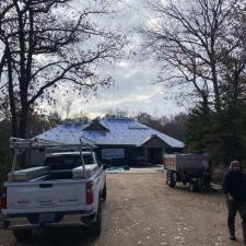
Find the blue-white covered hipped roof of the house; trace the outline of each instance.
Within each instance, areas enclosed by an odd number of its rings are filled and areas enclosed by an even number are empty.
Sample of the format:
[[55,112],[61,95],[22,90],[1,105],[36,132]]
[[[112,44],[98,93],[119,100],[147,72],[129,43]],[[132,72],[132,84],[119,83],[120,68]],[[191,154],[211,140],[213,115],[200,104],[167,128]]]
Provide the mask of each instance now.
[[90,130],[90,125],[66,124],[37,136],[36,139],[71,144],[80,143],[80,138],[82,137],[84,141],[90,141],[97,145],[141,147],[153,136],[157,136],[171,148],[184,148],[183,142],[147,127],[134,119],[105,118],[99,120],[99,125],[107,130]]

